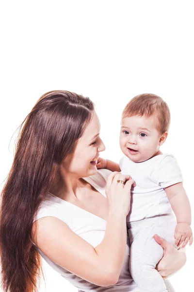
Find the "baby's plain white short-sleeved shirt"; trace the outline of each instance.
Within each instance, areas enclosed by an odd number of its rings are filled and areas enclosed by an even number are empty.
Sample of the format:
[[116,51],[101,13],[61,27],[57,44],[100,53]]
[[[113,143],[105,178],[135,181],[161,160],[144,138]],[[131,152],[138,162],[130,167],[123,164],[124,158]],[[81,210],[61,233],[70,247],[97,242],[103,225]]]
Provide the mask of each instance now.
[[131,188],[127,222],[172,212],[164,188],[183,182],[180,168],[172,154],[157,155],[139,163],[124,156],[119,166],[121,173],[129,174],[136,183]]

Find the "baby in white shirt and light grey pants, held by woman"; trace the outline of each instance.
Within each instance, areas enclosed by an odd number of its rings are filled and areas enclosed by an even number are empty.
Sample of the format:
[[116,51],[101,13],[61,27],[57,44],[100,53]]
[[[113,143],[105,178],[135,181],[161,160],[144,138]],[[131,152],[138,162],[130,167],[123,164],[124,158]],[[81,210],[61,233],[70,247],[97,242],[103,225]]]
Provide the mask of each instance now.
[[120,147],[125,156],[119,165],[102,158],[97,164],[97,168],[129,174],[136,182],[131,189],[127,227],[129,270],[141,292],[167,292],[155,269],[163,256],[162,247],[153,238],[155,234],[176,246],[193,242],[191,207],[180,168],[172,154],[160,151],[169,125],[170,111],[161,97],[135,96],[122,113]]

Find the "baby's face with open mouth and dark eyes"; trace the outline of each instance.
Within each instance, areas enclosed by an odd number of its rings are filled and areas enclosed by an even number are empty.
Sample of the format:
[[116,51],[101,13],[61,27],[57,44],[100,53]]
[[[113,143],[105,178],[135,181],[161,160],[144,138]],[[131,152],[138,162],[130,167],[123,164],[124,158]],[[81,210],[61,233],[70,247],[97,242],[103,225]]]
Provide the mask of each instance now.
[[131,116],[121,121],[120,147],[134,162],[143,162],[156,155],[160,138],[154,116]]

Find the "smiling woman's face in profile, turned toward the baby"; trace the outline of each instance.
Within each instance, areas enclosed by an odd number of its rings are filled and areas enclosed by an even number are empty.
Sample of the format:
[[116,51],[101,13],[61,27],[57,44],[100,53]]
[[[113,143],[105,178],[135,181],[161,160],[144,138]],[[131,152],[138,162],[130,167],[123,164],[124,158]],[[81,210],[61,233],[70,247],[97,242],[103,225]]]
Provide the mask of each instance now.
[[97,158],[105,146],[99,137],[100,123],[96,111],[85,128],[80,139],[75,143],[74,150],[64,161],[64,168],[68,174],[78,178],[88,177],[97,172]]

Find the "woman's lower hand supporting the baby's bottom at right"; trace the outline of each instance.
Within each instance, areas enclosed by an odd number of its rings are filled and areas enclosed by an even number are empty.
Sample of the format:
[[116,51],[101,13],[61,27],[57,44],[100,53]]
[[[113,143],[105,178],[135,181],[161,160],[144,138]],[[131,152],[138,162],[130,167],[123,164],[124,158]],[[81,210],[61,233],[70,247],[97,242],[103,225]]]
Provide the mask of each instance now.
[[171,243],[158,235],[155,235],[154,239],[164,249],[163,257],[157,264],[156,269],[162,278],[166,279],[184,266],[186,263],[186,254],[183,249],[177,250]]

